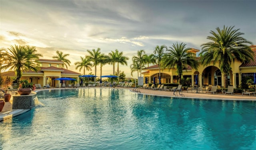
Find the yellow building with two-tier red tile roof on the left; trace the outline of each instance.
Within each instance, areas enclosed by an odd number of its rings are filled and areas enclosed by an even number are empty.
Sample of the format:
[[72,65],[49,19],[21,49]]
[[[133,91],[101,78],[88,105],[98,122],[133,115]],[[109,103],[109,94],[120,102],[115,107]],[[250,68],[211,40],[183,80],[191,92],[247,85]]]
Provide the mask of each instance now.
[[[39,59],[38,61],[40,69],[37,72],[32,70],[23,71],[20,80],[28,80],[29,82],[33,82],[34,84],[41,84],[42,86],[49,84],[52,87],[60,87],[60,81],[54,79],[67,77],[74,78],[77,80],[77,83],[79,83],[79,76],[81,74],[65,68],[61,68],[62,64],[64,64],[62,61],[51,59]],[[16,77],[14,71],[2,72],[2,75]]]

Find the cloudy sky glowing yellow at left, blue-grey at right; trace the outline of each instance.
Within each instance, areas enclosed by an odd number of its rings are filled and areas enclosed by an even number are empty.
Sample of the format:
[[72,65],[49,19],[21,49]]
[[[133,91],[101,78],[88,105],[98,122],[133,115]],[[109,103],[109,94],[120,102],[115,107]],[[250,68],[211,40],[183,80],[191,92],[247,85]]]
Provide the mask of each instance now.
[[[177,42],[201,50],[216,27],[235,26],[256,45],[255,6],[255,0],[0,0],[0,47],[35,46],[44,59],[62,51],[75,72],[80,71],[74,63],[88,55],[86,50],[100,48],[108,55],[118,49],[130,58],[119,70],[131,77],[137,51],[149,55],[157,45]],[[113,67],[102,71],[112,74]],[[94,67],[89,72],[94,74]]]

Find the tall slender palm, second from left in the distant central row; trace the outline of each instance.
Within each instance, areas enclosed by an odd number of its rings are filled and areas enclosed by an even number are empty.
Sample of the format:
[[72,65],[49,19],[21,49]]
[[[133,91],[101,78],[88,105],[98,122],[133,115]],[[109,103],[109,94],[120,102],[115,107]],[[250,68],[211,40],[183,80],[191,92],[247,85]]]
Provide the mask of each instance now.
[[[100,64],[100,48],[98,48],[97,50],[92,49],[92,51],[87,50],[87,52],[89,53],[89,55],[87,55],[86,58],[93,62],[92,66],[94,66],[95,76],[97,76],[97,65]],[[96,82],[96,78],[94,78],[94,82]]]

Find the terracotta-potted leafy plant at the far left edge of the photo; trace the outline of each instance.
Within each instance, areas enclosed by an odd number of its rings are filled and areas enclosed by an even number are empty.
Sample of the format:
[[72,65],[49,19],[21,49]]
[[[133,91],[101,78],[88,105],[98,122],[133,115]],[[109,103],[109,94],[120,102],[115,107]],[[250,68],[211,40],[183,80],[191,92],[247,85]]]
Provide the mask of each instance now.
[[2,75],[0,76],[0,89],[2,92],[4,92],[4,100],[6,102],[10,101],[12,95],[8,92],[8,86],[12,85],[13,80],[6,76],[3,77]]

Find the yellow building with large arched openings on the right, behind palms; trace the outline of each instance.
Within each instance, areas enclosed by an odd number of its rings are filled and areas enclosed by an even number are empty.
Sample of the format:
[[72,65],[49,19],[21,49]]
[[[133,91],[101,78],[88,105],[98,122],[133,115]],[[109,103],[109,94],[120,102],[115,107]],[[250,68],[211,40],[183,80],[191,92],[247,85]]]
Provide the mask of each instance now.
[[[256,72],[256,45],[250,46],[252,51],[254,52],[254,61],[250,61],[247,63],[241,63],[235,61],[231,64],[232,70],[230,70],[230,74],[228,76],[228,84],[233,85],[234,88],[237,88],[242,81],[242,78],[249,76],[253,78],[254,72]],[[192,55],[196,56],[196,53],[199,52],[197,49],[191,49],[189,51]],[[196,57],[196,60],[200,60],[200,57]],[[200,63],[200,62],[199,62]],[[161,69],[161,73],[159,74],[158,64],[149,66],[144,68],[145,72],[142,72],[144,75],[144,81],[153,83],[154,78],[158,81],[159,76],[161,83],[177,83],[178,82],[178,74],[176,72],[176,68],[171,68],[170,71],[168,69]],[[192,69],[190,66],[183,70],[183,78],[192,78],[192,85],[195,83],[195,76],[199,75],[199,83],[202,85],[217,85],[224,86],[224,77],[220,71],[219,64],[208,64],[208,66],[199,65],[198,69]]]

